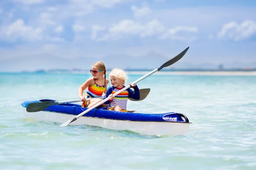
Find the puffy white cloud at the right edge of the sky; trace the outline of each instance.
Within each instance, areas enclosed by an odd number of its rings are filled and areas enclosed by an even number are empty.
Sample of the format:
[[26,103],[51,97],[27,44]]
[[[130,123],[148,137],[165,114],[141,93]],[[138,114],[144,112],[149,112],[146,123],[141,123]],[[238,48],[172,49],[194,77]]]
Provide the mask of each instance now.
[[253,20],[245,20],[240,25],[236,22],[224,24],[218,33],[218,38],[230,38],[236,41],[250,38],[256,34],[256,22]]

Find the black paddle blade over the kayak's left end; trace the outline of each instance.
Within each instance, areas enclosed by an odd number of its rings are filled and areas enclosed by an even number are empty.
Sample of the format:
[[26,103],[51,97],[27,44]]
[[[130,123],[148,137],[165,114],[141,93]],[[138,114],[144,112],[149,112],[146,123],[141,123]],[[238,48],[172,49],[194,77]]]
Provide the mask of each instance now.
[[43,111],[44,109],[53,105],[58,105],[58,102],[47,101],[47,102],[39,102],[39,103],[29,103],[26,107],[26,111],[27,112]]

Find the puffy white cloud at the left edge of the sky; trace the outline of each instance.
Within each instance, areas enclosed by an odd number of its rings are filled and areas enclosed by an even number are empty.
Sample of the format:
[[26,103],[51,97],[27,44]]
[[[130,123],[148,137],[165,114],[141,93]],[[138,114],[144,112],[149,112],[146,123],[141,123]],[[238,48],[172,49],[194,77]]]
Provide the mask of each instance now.
[[17,40],[19,38],[29,41],[41,40],[42,29],[26,26],[24,21],[19,19],[10,25],[2,26],[0,30],[0,38],[8,41]]

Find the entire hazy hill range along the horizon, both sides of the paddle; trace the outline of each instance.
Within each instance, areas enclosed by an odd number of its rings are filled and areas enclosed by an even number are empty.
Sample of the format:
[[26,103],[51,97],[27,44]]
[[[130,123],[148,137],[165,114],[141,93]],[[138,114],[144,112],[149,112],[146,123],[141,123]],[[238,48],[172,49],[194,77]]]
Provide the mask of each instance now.
[[[17,57],[0,61],[0,72],[5,71],[36,71],[36,70],[89,70],[94,62],[102,61],[108,70],[121,68],[126,70],[132,69],[154,69],[169,58],[157,54],[154,51],[140,57],[128,55],[108,55],[102,58],[80,57],[76,59],[64,59],[49,54],[41,54],[27,57]],[[224,69],[243,69],[256,68],[256,62],[240,63],[230,62],[222,63]],[[176,62],[174,65],[164,68],[168,69],[218,69],[218,65],[212,63],[191,64],[189,62]]]

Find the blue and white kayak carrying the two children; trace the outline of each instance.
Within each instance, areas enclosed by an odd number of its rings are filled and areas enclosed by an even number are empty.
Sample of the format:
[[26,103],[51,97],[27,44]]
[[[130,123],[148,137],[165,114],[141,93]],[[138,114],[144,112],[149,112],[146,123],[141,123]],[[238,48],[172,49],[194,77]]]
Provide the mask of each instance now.
[[[29,103],[47,101],[54,102],[55,100],[26,100],[20,105],[26,108]],[[43,111],[25,112],[24,115],[26,118],[37,121],[63,123],[87,109],[78,104],[64,103],[49,106]],[[182,113],[131,113],[108,111],[102,108],[94,108],[70,123],[70,125],[92,125],[111,130],[130,130],[140,134],[159,136],[186,135],[190,124],[189,119]]]

